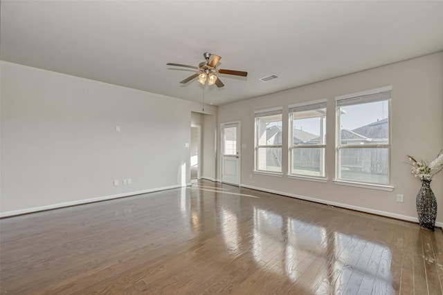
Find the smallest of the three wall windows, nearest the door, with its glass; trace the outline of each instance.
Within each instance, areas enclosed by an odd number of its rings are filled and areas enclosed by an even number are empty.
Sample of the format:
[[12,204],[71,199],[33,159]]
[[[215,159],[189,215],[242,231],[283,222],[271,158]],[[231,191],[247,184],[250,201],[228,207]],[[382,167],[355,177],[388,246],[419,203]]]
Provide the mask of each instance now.
[[255,171],[282,172],[282,108],[255,112]]

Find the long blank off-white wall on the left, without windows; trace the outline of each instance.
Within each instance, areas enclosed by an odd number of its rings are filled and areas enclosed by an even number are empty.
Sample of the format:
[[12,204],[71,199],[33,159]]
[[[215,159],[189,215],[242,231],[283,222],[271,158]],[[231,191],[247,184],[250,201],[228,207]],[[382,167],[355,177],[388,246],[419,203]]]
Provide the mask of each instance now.
[[[190,183],[185,144],[191,112],[201,104],[4,61],[0,66],[0,216]],[[211,117],[216,112],[205,106]],[[122,185],[127,178],[132,184]]]

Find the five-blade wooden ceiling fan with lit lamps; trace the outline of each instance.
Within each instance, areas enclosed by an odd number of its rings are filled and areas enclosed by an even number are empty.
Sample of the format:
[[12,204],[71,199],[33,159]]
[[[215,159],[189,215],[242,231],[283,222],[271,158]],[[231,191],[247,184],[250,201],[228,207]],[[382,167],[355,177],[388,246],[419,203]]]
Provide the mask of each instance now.
[[203,56],[205,57],[206,61],[202,61],[199,66],[188,66],[186,64],[173,64],[171,62],[168,62],[168,66],[183,66],[185,68],[194,68],[195,70],[198,70],[198,73],[195,73],[194,75],[191,75],[190,77],[187,77],[183,81],[181,81],[181,84],[185,84],[190,82],[190,80],[199,77],[199,82],[201,84],[205,84],[206,80],[208,80],[209,85],[215,84],[217,87],[223,87],[223,82],[220,81],[219,77],[217,77],[217,74],[228,74],[228,75],[236,75],[236,76],[242,76],[246,77],[248,75],[248,72],[244,72],[242,70],[226,70],[224,68],[216,68],[217,64],[219,63],[221,57],[219,55],[213,55],[211,53],[204,53]]

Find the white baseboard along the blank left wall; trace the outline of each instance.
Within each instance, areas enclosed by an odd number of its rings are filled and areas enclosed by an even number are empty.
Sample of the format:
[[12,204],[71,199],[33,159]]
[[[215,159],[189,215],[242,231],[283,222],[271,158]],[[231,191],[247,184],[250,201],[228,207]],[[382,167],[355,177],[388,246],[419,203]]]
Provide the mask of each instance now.
[[50,204],[50,205],[46,205],[46,206],[42,206],[42,207],[33,207],[33,208],[21,209],[21,210],[17,210],[17,211],[7,211],[7,212],[0,213],[0,218],[17,216],[17,215],[27,214],[27,213],[34,213],[34,212],[38,212],[38,211],[59,209],[59,208],[63,208],[63,207],[71,207],[71,206],[76,206],[76,205],[80,205],[80,204],[88,204],[88,203],[100,202],[100,201],[105,201],[105,200],[125,198],[125,197],[129,197],[129,196],[141,195],[143,193],[153,193],[154,191],[165,191],[167,189],[177,189],[179,187],[186,187],[186,186],[190,186],[190,185],[191,185],[190,183],[188,183],[186,185],[177,184],[177,185],[172,185],[170,187],[158,187],[155,189],[145,189],[143,191],[131,191],[128,193],[119,193],[118,195],[112,195],[112,196],[103,196],[103,197],[90,198],[90,199],[78,200],[78,201],[73,201],[73,202]]

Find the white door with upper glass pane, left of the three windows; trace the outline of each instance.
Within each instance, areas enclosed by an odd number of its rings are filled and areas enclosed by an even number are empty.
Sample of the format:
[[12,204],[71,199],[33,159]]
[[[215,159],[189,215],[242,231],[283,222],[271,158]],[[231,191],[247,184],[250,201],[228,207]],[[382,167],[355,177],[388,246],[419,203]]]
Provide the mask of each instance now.
[[240,122],[221,124],[221,182],[240,184]]

